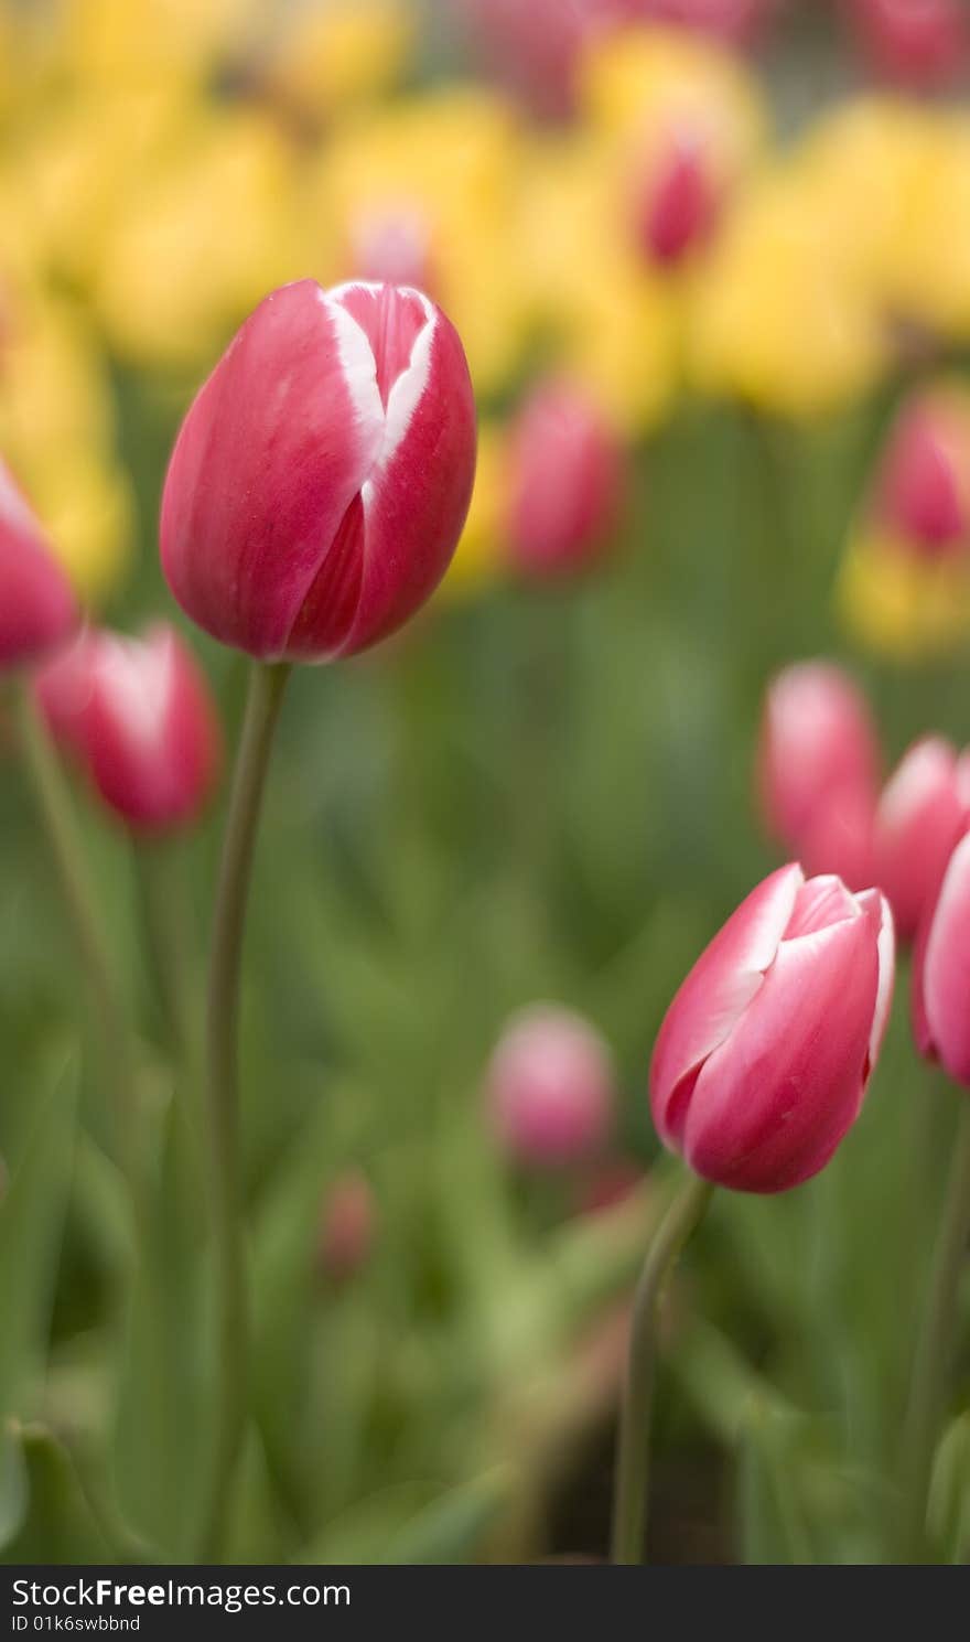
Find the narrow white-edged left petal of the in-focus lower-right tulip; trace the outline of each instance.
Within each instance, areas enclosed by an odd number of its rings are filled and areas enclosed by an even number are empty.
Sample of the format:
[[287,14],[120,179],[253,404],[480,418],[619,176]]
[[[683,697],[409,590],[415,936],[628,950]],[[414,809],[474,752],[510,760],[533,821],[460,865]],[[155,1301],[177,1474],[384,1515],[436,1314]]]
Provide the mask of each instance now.
[[762,988],[804,883],[780,867],[740,903],[676,993],[653,1049],[650,1105],[660,1136],[679,1143],[689,1080]]

